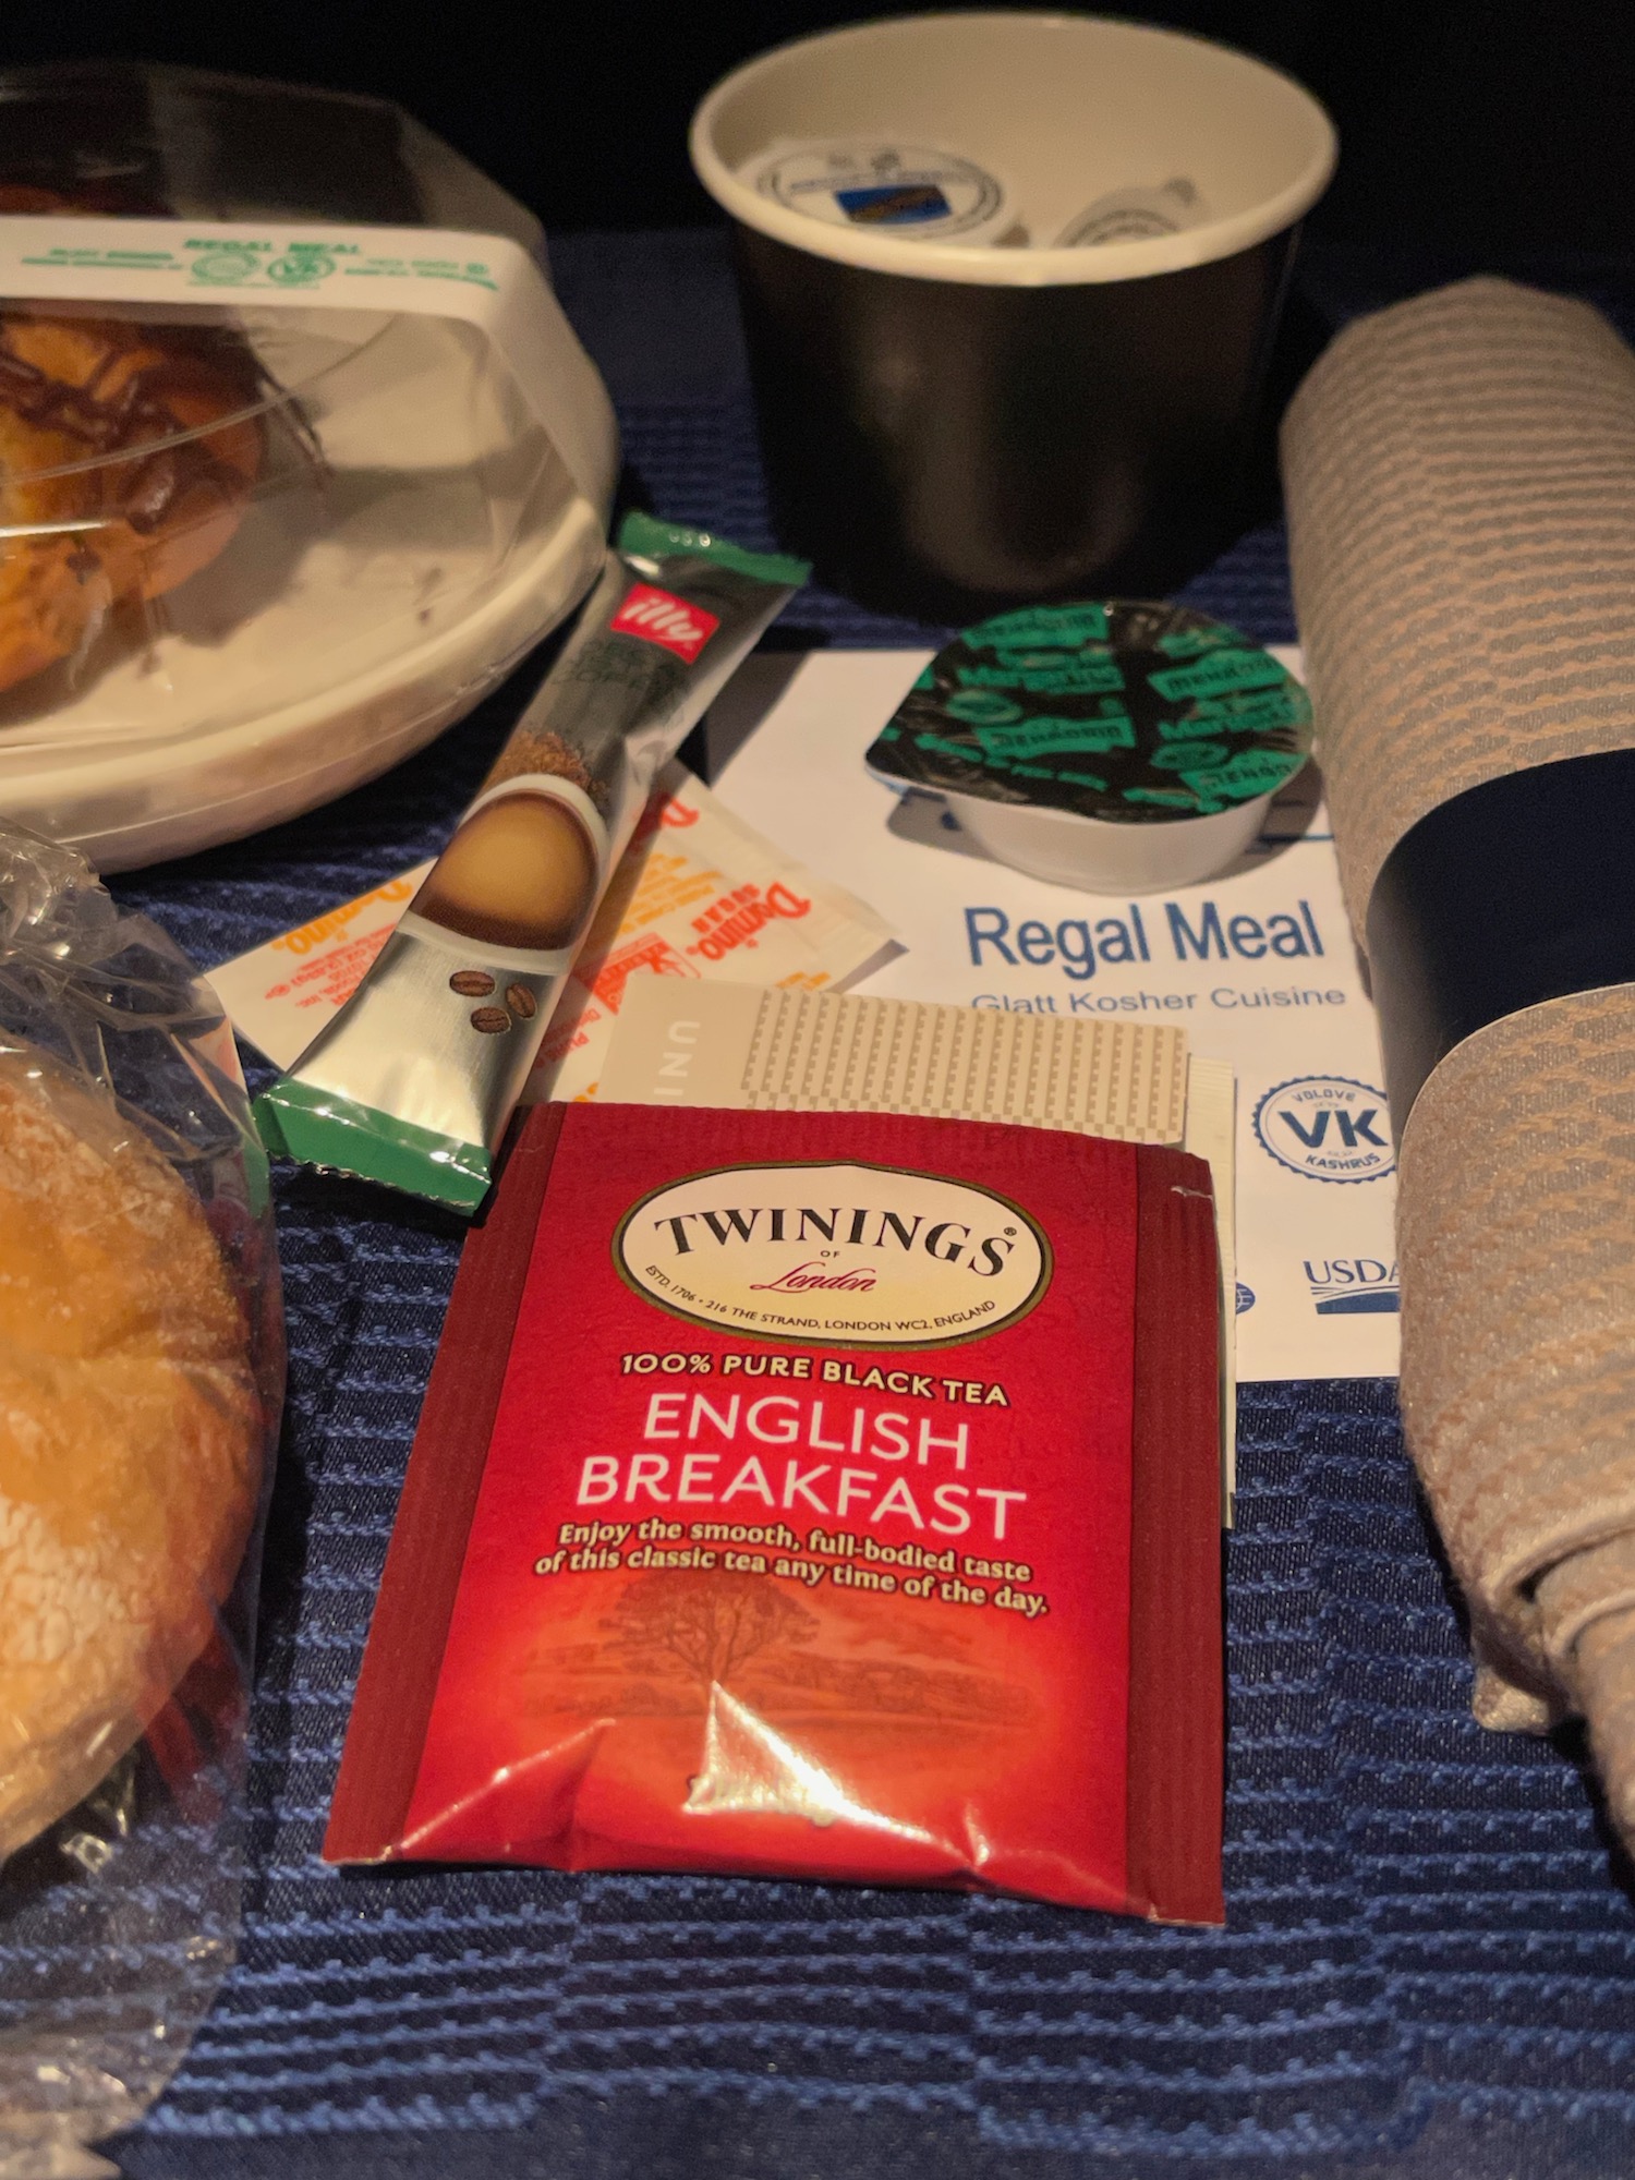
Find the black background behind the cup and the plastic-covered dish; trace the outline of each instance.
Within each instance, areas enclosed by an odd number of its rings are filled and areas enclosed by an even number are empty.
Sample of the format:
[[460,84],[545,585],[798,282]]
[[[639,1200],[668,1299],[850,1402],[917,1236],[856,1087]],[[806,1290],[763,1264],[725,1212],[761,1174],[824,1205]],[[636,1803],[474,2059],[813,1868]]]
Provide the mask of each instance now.
[[[732,63],[892,7],[822,0],[11,0],[0,61],[122,55],[373,92],[547,227],[706,222],[687,116]],[[1437,270],[1624,255],[1635,207],[1631,0],[1164,0],[1323,98],[1341,174],[1310,240]]]

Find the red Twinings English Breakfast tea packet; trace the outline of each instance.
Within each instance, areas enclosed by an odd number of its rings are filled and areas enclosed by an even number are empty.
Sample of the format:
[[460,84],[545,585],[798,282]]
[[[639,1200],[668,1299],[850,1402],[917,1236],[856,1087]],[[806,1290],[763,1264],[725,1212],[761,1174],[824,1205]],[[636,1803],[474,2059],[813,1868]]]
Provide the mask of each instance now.
[[541,1107],[467,1243],[325,1855],[1221,1921],[1208,1166]]

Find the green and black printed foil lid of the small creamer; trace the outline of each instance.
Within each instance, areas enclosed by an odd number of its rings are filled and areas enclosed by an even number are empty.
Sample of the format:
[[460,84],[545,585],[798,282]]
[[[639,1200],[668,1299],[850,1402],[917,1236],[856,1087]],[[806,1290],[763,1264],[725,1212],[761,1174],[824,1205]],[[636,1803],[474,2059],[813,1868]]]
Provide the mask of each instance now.
[[1312,708],[1271,652],[1188,606],[1022,606],[968,628],[868,752],[940,794],[1164,824],[1275,794]]

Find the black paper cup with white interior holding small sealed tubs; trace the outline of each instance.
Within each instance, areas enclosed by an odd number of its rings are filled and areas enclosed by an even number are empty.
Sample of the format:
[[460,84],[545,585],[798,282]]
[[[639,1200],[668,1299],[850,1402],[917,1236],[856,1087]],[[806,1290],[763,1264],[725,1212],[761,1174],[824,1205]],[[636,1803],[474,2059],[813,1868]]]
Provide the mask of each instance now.
[[911,15],[748,61],[693,166],[732,218],[778,536],[935,621],[1158,595],[1232,530],[1334,129],[1225,46]]

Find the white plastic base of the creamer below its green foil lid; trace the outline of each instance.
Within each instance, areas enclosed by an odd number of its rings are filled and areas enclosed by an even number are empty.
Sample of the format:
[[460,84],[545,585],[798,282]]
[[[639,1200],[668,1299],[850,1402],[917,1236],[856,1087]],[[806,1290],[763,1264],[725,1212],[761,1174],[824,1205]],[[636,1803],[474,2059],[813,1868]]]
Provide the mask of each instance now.
[[1029,802],[944,796],[970,837],[1001,863],[1088,894],[1164,894],[1212,879],[1256,839],[1271,809],[1271,796],[1256,796],[1212,818],[1112,824]]

